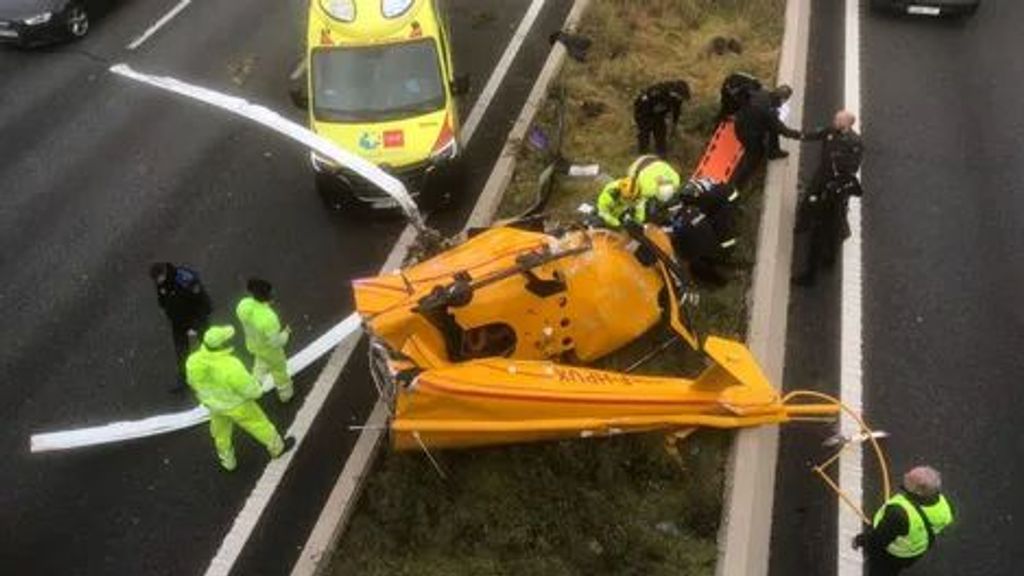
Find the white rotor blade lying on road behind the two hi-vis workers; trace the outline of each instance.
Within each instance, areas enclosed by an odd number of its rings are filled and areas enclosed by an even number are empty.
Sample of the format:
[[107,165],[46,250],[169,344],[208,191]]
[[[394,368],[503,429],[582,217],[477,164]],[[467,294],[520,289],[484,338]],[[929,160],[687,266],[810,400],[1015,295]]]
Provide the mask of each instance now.
[[[316,338],[290,358],[288,360],[288,373],[294,376],[305,370],[319,357],[338,345],[339,342],[357,333],[361,325],[358,315],[349,315],[348,318],[338,323],[338,325],[328,330],[323,336]],[[273,388],[273,381],[269,377],[264,379],[262,384],[264,393]],[[141,420],[113,422],[101,426],[73,430],[36,434],[32,436],[30,451],[37,453],[70,450],[73,448],[84,448],[86,446],[114,444],[147,438],[191,427],[205,422],[209,418],[210,413],[207,409],[197,406],[184,412],[162,414]]]

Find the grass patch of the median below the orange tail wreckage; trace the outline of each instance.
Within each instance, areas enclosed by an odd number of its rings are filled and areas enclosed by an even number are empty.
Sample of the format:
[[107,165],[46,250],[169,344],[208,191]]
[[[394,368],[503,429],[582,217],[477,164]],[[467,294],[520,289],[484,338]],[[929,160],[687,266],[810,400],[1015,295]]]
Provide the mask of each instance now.
[[387,454],[334,574],[710,574],[724,433]]

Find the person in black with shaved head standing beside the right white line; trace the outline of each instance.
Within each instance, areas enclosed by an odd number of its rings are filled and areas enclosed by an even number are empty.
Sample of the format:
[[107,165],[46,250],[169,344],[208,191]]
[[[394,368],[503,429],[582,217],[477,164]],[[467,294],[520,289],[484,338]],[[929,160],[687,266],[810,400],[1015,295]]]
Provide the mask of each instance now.
[[854,115],[843,110],[836,113],[831,126],[804,135],[806,140],[821,140],[822,146],[810,192],[798,215],[797,232],[810,233],[806,263],[795,279],[798,285],[813,285],[818,268],[834,265],[840,246],[850,236],[850,197],[863,194],[857,172],[864,146],[853,129],[855,123]]

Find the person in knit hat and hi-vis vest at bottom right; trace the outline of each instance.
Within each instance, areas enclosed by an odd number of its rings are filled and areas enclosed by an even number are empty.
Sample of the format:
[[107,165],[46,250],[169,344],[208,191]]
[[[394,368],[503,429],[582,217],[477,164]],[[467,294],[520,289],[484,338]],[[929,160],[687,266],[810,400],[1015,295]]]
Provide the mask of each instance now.
[[932,548],[935,538],[953,522],[942,495],[942,478],[929,466],[903,476],[903,487],[874,515],[871,527],[853,540],[863,547],[868,576],[897,575]]

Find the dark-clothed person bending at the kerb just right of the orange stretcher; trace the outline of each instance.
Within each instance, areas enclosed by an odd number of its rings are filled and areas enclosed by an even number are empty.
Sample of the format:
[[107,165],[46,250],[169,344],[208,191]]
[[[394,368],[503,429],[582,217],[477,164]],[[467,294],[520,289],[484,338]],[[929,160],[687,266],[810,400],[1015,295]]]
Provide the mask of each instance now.
[[756,90],[736,113],[736,136],[743,145],[743,159],[733,176],[737,187],[746,184],[766,156],[769,160],[788,156],[778,147],[780,135],[800,139],[800,130],[790,128],[779,118],[779,107],[791,93],[788,86],[771,91]]

